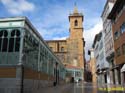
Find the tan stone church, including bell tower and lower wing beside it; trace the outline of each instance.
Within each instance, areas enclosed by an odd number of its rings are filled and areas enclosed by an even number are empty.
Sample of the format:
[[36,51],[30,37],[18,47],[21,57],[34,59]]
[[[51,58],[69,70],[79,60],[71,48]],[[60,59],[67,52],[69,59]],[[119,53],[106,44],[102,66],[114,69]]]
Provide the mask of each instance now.
[[83,14],[78,12],[77,7],[69,15],[69,34],[65,40],[47,40],[47,44],[59,57],[64,65],[71,65],[84,69],[85,41],[83,38]]

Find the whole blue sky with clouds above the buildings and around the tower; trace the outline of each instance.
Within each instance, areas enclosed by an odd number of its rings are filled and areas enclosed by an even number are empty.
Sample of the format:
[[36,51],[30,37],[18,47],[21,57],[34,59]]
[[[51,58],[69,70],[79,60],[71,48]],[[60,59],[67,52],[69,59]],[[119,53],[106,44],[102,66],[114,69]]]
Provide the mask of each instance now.
[[68,16],[76,3],[84,15],[85,56],[95,34],[102,30],[101,14],[106,0],[0,0],[0,17],[26,16],[45,40],[69,37]]

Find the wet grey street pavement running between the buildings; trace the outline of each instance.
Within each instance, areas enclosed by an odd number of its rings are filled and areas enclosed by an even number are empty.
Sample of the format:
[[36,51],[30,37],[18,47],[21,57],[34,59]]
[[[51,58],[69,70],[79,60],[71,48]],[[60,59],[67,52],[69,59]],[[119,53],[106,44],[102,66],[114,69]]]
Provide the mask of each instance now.
[[99,91],[97,86],[91,83],[75,83],[58,85],[41,89],[38,93],[125,93],[123,91]]

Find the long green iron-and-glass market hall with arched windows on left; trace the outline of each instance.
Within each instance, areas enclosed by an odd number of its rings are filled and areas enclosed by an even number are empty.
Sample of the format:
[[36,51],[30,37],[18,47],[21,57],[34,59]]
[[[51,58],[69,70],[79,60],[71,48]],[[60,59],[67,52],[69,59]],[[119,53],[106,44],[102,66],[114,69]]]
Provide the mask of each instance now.
[[0,93],[36,93],[66,69],[26,17],[0,18]]

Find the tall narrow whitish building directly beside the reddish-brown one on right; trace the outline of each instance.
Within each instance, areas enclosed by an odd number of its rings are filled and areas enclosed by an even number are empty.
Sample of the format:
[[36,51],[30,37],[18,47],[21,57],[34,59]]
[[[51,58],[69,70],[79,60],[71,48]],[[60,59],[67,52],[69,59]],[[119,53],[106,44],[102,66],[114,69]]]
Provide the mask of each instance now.
[[114,44],[112,35],[112,23],[111,20],[107,19],[114,3],[116,0],[107,0],[104,10],[102,12],[103,21],[103,33],[104,33],[104,46],[105,46],[105,59],[109,62],[109,70],[107,70],[107,75],[110,77],[110,84],[115,84],[115,71],[114,66]]

